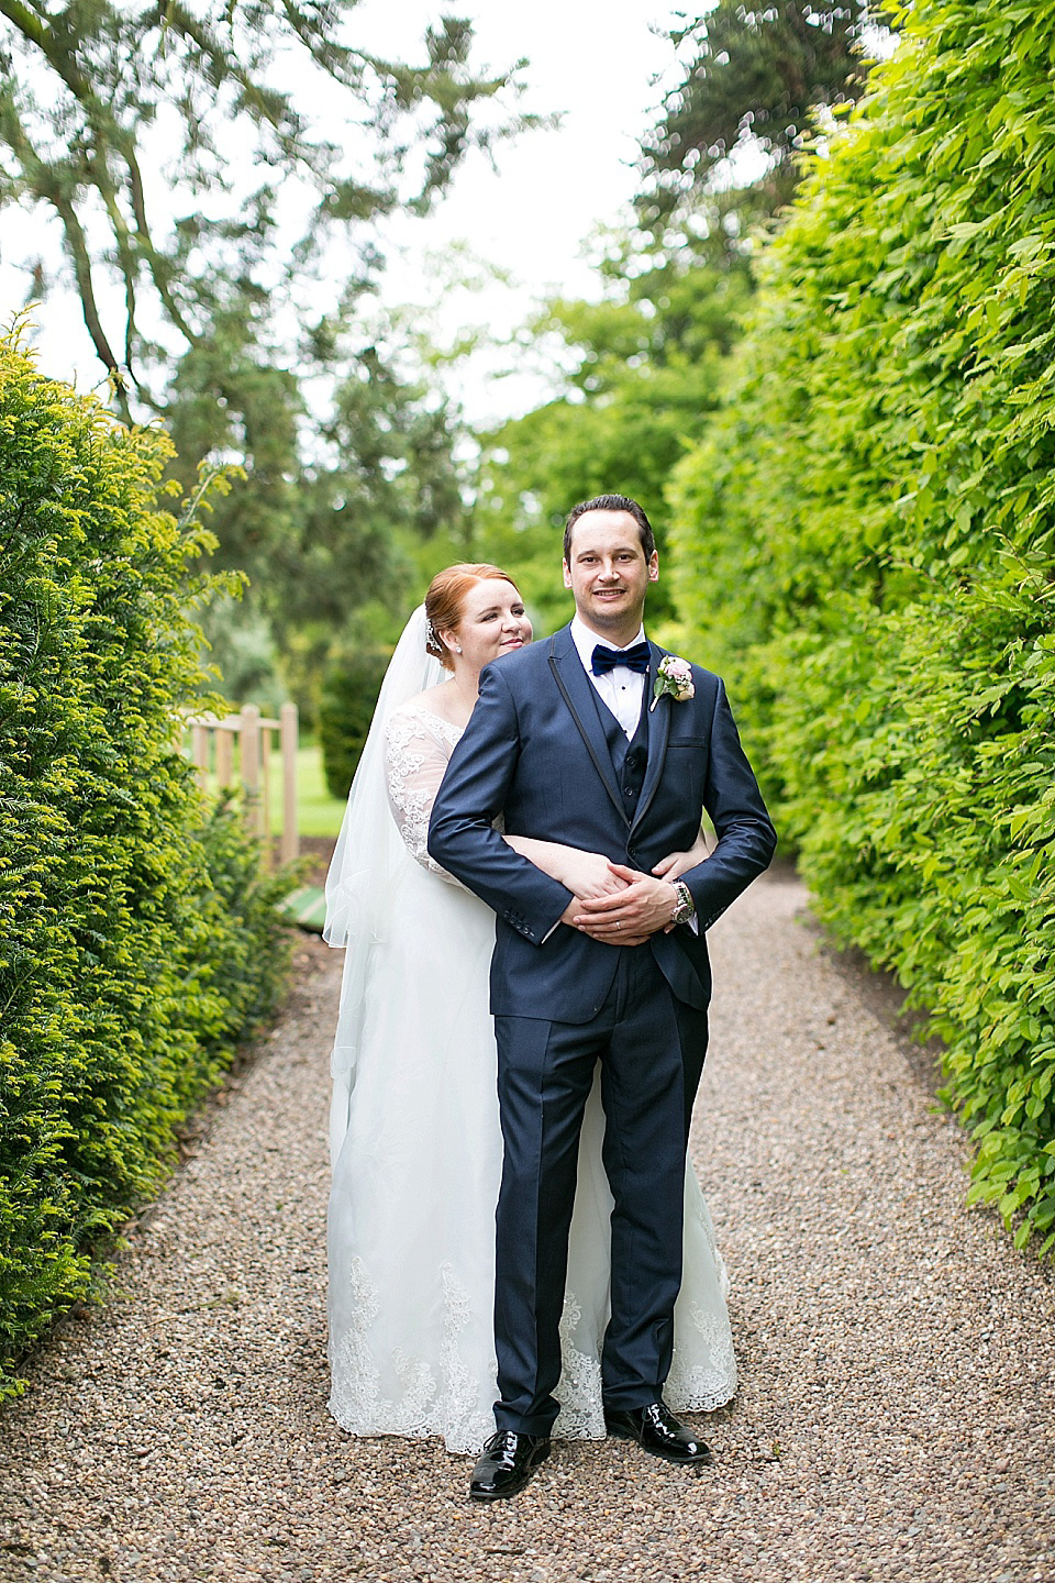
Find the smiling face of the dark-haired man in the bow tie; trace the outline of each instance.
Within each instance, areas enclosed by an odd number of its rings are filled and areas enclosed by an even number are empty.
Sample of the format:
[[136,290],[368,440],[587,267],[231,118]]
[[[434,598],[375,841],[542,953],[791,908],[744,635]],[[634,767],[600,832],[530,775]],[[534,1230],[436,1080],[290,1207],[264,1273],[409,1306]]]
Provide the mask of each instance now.
[[633,641],[641,627],[649,584],[660,576],[653,554],[645,559],[630,511],[585,511],[571,529],[565,587],[579,617],[615,644]]

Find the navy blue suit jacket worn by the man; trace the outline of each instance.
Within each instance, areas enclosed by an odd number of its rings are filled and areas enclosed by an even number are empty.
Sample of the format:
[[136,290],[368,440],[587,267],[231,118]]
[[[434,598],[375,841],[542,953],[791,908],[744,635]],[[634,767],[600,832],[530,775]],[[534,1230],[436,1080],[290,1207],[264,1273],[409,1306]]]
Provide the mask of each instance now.
[[[650,644],[645,698],[664,649]],[[490,1008],[497,1015],[585,1023],[615,977],[618,950],[560,924],[571,901],[558,880],[519,856],[511,836],[603,852],[649,872],[691,847],[704,810],[715,852],[688,874],[699,934],[682,926],[649,947],[674,994],[710,1000],[705,929],[767,867],[777,836],[718,676],[693,666],[694,698],[663,697],[649,714],[649,763],[636,812],[623,807],[595,690],[571,632],[487,665],[479,700],[437,795],[429,852],[497,913]],[[552,932],[550,932],[552,931]]]

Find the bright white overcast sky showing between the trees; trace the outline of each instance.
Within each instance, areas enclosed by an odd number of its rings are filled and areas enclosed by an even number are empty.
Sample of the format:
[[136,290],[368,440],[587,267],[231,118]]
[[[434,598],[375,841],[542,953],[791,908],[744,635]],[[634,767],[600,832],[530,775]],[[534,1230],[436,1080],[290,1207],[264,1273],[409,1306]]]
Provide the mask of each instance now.
[[[473,155],[448,196],[425,220],[397,217],[383,236],[391,304],[421,307],[440,339],[465,325],[486,325],[503,336],[520,325],[550,291],[587,294],[596,279],[582,256],[585,237],[599,223],[626,218],[634,192],[637,138],[650,125],[672,71],[672,49],[656,30],[675,16],[661,0],[362,0],[354,13],[356,40],[378,54],[416,59],[416,41],[443,11],[470,16],[476,25],[476,68],[500,71],[528,57],[522,73],[524,109],[562,112],[557,130],[525,133],[497,150],[497,173]],[[14,228],[14,234],[13,234]],[[22,233],[22,234],[17,234]],[[24,269],[27,220],[16,209],[0,214],[0,302],[5,317],[27,291]],[[55,234],[54,226],[49,233]],[[475,291],[451,285],[457,269],[449,250],[463,244],[473,260],[508,277]],[[440,255],[437,258],[437,255]],[[486,279],[475,266],[467,274]],[[38,309],[38,347],[47,374],[92,386],[100,366],[70,296],[52,293]],[[457,394],[475,421],[525,412],[547,388],[520,364],[511,378],[495,378],[505,358],[473,359]]]

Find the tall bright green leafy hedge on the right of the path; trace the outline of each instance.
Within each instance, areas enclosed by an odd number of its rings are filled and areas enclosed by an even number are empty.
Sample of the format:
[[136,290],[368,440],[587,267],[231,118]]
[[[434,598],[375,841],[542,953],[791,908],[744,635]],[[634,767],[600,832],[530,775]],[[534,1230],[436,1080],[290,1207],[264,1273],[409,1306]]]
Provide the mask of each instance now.
[[1053,0],[936,3],[762,264],[672,494],[822,918],[947,1050],[971,1195],[1055,1244]]

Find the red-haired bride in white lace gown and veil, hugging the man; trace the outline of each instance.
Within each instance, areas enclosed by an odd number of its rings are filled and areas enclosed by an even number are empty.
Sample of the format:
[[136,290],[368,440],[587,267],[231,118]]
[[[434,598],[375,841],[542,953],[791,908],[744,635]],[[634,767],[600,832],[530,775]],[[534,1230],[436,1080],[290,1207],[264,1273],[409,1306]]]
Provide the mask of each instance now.
[[[487,1010],[493,913],[427,855],[429,814],[476,703],[479,673],[531,638],[492,565],[440,571],[388,668],[326,882],[326,939],[345,945],[332,1054],[329,1357],[334,1418],[354,1434],[441,1434],[479,1452],[493,1431],[495,1205],[501,1179],[495,1038]],[[448,679],[441,679],[443,673]],[[606,858],[506,837],[580,899],[617,888]],[[672,853],[669,879],[702,852]],[[595,1080],[562,1319],[555,1433],[604,1437],[612,1197]],[[691,1165],[672,1409],[735,1391],[726,1277]]]

